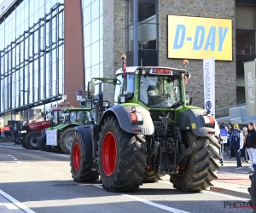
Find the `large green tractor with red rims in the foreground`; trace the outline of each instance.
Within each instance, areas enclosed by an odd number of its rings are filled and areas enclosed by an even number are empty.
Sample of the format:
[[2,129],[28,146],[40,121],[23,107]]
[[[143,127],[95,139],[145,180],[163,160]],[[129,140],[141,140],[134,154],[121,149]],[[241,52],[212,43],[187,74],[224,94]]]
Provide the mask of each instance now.
[[[189,77],[177,68],[119,69],[112,80],[115,105],[97,124],[75,128],[73,180],[101,176],[102,187],[110,192],[135,191],[164,175],[185,192],[212,186],[218,177],[220,131],[211,112],[188,106],[184,81]],[[88,95],[94,95],[93,81]]]

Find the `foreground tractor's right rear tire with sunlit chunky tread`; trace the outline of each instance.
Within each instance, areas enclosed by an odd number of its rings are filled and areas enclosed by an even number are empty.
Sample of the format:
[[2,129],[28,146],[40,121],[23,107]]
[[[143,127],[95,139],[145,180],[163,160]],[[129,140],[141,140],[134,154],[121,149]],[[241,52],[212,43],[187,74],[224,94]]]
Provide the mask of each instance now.
[[191,145],[195,142],[195,149],[185,162],[185,169],[172,175],[170,181],[173,187],[184,192],[200,192],[213,186],[211,181],[218,178],[218,154],[220,144],[215,136],[199,137],[192,131],[183,131],[183,142]]

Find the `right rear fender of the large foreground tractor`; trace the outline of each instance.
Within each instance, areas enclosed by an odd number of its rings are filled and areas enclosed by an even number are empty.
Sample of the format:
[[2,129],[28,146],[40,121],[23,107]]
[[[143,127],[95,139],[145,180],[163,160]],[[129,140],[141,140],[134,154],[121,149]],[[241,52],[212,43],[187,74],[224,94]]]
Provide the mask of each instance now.
[[214,126],[209,126],[205,124],[203,116],[207,116],[203,109],[189,109],[179,112],[177,115],[177,126],[180,127],[180,130],[192,130],[197,136],[219,136],[220,130],[217,121],[215,120]]

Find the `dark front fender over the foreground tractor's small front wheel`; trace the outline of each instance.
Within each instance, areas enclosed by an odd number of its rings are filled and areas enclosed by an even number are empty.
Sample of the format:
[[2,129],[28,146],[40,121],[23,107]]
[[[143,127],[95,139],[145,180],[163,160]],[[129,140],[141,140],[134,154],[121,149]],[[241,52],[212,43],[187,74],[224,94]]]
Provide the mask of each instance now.
[[75,131],[80,135],[84,147],[84,161],[92,161],[92,141],[90,126],[76,126]]

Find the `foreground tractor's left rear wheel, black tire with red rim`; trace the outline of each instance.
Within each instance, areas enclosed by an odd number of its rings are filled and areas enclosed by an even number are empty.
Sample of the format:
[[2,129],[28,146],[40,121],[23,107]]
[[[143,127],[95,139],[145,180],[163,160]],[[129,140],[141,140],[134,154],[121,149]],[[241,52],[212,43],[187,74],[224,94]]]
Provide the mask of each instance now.
[[114,117],[104,120],[98,148],[98,167],[104,189],[132,192],[146,176],[147,146],[143,135],[132,135]]

